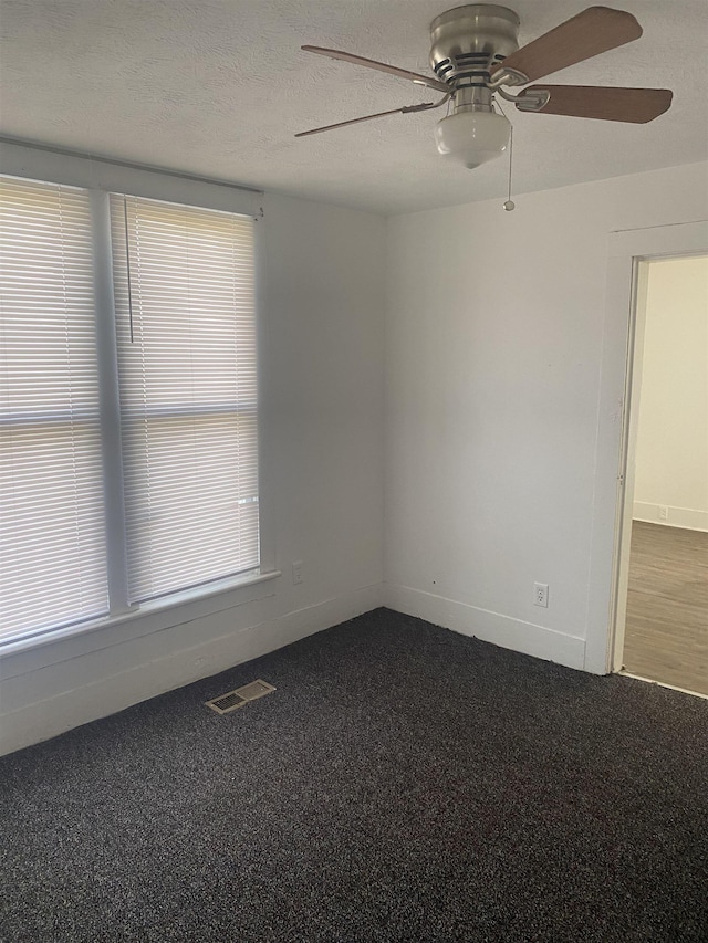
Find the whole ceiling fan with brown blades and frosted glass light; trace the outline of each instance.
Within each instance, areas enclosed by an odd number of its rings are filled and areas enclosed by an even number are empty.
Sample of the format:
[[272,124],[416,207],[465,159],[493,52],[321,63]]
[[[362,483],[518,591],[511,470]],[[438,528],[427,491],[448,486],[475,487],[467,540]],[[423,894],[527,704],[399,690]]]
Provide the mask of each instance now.
[[[440,154],[478,167],[502,154],[511,134],[508,118],[494,111],[494,96],[520,112],[573,115],[644,124],[666,112],[668,88],[613,88],[594,85],[529,85],[539,78],[633,42],[642,27],[632,13],[610,7],[589,7],[550,32],[519,49],[519,17],[507,7],[472,3],[447,10],[430,23],[430,66],[434,76],[397,69],[350,52],[303,45],[305,52],[386,72],[440,92],[437,102],[392,108],[347,122],[301,132],[295,137],[345,127],[386,115],[412,114],[449,103],[449,114],[435,128]],[[508,87],[525,86],[518,94]]]

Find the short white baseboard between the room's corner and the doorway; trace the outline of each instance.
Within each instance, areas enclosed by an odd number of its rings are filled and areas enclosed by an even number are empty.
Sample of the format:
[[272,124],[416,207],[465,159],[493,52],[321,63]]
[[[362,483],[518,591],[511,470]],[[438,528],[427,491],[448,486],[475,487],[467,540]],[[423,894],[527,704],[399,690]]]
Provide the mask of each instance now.
[[583,669],[585,640],[552,629],[512,619],[499,612],[457,603],[444,596],[384,584],[383,605],[397,612],[416,616],[436,626],[513,649],[568,668]]

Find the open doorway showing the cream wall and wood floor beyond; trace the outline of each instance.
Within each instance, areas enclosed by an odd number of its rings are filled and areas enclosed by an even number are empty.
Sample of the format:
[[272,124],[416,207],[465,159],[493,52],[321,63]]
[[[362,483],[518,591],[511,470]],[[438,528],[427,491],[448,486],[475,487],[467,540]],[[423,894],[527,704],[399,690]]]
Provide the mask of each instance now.
[[708,696],[708,255],[637,263],[618,667]]

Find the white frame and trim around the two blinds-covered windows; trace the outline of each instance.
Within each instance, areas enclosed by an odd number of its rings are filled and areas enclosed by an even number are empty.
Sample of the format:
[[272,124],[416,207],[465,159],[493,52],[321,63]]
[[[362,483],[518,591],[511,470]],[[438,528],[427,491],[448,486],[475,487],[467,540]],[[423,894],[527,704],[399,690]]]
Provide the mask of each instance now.
[[[263,284],[262,193],[228,182],[207,180],[190,175],[173,174],[159,168],[146,168],[117,160],[97,160],[70,151],[38,148],[0,140],[0,172],[41,182],[80,187],[88,191],[92,241],[100,384],[100,425],[103,462],[104,513],[106,524],[106,574],[110,610],[105,616],[72,622],[52,629],[17,632],[0,639],[0,652],[10,654],[84,635],[110,626],[134,622],[138,636],[149,633],[153,626],[164,627],[167,618],[178,625],[186,618],[208,616],[233,605],[249,603],[274,594],[271,580],[281,575],[275,567],[274,533],[272,527],[272,495],[263,455],[261,300]],[[211,580],[188,589],[140,603],[128,604],[128,570],[125,535],[125,506],[121,450],[121,405],[118,396],[117,340],[111,242],[110,195],[129,193],[146,199],[176,205],[214,209],[251,216],[253,228],[257,417],[258,417],[258,486],[260,565],[232,577]],[[145,620],[146,631],[139,630]]]

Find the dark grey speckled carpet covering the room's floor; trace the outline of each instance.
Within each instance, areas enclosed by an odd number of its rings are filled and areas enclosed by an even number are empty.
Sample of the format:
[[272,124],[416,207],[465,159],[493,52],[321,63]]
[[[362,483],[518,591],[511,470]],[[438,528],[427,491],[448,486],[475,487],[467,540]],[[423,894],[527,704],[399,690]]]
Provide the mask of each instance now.
[[705,943],[707,775],[708,701],[379,609],[0,759],[0,940]]

